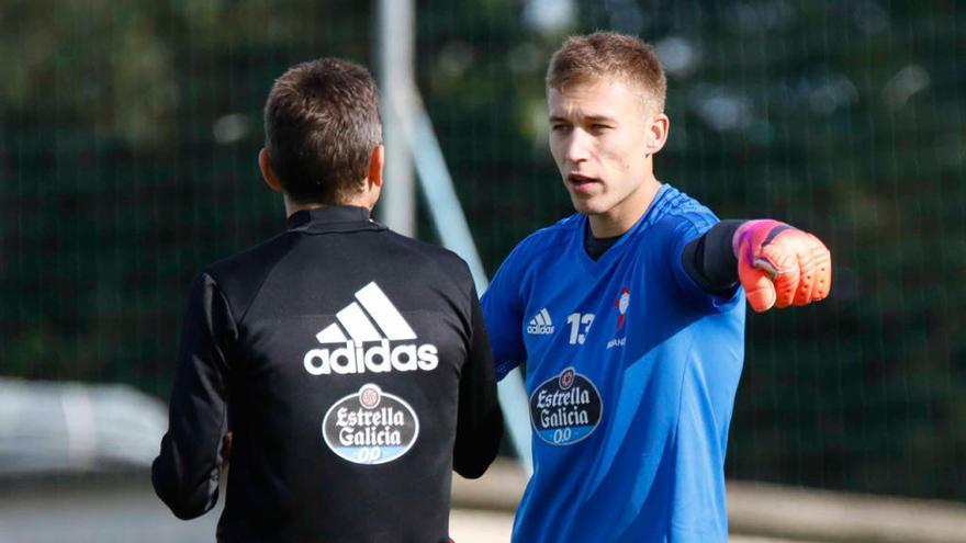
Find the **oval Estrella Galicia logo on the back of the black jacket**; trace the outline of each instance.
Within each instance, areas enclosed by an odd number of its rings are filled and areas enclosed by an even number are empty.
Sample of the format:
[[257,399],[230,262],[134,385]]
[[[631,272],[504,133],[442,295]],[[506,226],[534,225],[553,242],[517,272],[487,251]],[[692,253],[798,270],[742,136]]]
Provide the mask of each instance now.
[[325,444],[356,464],[385,464],[406,453],[419,435],[416,412],[398,396],[368,383],[336,401],[322,421]]

